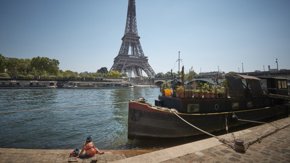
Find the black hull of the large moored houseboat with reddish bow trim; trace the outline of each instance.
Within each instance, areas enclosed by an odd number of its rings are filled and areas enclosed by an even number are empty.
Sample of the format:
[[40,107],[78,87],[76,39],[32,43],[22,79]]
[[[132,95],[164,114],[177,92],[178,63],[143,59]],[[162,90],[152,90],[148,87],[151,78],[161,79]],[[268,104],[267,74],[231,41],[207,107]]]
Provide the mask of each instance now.
[[[287,113],[289,106],[273,106],[260,109],[233,111],[239,119],[260,120],[271,116]],[[232,112],[217,112],[204,114],[177,113],[192,125],[213,132],[225,129],[227,126],[237,126],[243,121],[234,121]],[[173,112],[149,107],[141,103],[129,103],[128,138],[177,138],[202,134],[185,123]]]

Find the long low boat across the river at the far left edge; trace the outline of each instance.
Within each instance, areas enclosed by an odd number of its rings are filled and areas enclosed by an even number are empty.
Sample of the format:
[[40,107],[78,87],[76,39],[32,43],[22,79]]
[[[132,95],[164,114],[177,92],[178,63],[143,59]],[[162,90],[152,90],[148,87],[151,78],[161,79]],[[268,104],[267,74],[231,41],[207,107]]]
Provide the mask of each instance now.
[[0,88],[19,89],[19,88],[57,88],[56,81],[40,80],[0,80]]

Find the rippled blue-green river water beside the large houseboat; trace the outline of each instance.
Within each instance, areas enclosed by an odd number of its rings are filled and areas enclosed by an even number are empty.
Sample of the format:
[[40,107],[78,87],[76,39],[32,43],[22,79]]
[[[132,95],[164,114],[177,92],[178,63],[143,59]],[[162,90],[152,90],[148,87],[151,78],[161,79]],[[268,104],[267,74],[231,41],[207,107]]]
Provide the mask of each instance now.
[[[128,102],[154,104],[159,88],[0,89],[0,112]],[[109,124],[108,124],[109,123]],[[107,124],[107,125],[106,125]],[[104,128],[100,129],[106,125]],[[91,137],[99,149],[162,148],[127,139],[128,103],[0,114],[0,148],[73,149]]]

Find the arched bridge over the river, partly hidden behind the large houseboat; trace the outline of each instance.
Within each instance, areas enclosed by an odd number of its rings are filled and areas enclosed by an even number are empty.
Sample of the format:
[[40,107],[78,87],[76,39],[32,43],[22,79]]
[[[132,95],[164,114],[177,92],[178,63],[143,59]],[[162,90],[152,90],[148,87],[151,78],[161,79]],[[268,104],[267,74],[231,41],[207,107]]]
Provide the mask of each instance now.
[[[249,76],[255,76],[255,77],[280,77],[280,78],[287,78],[290,80],[290,70],[277,70],[277,71],[258,71],[258,72],[244,72],[244,73],[237,73],[240,75],[249,75]],[[202,83],[221,83],[223,79],[216,79],[213,78],[212,75],[204,75],[204,76],[194,76],[194,79],[190,81],[192,83],[193,81],[200,81]],[[144,79],[144,80],[134,80],[134,83],[139,83],[143,85],[158,85],[160,86],[162,83],[165,82],[171,82],[172,78],[154,78],[154,79]],[[178,78],[177,78],[178,81]],[[181,83],[181,78],[179,79],[179,82]],[[185,84],[188,84],[186,82]]]

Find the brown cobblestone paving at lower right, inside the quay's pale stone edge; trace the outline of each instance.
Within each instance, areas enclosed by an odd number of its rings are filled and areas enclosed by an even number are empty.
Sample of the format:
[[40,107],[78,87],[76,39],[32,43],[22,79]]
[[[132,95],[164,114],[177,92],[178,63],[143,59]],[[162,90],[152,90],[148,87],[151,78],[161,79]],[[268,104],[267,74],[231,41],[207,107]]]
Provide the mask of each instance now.
[[[279,123],[278,123],[279,122]],[[278,127],[290,124],[290,118],[273,122]],[[275,130],[269,124],[251,128],[251,132],[240,135],[239,139],[255,140]],[[253,139],[255,138],[255,139]],[[244,153],[236,152],[229,145],[219,145],[162,163],[290,163],[290,126],[275,132],[250,145]]]

